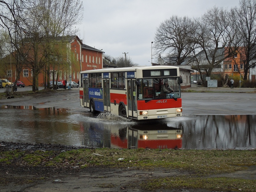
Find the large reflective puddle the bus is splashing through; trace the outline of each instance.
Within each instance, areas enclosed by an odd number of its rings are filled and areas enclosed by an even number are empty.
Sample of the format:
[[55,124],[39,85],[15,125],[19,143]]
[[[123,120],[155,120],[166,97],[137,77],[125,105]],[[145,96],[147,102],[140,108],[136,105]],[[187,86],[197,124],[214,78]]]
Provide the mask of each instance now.
[[146,135],[161,148],[167,144],[160,145],[160,140],[170,143],[182,133],[180,142],[186,149],[256,147],[255,115],[184,115],[138,122],[61,108],[0,106],[0,116],[0,141],[124,148],[139,147]]

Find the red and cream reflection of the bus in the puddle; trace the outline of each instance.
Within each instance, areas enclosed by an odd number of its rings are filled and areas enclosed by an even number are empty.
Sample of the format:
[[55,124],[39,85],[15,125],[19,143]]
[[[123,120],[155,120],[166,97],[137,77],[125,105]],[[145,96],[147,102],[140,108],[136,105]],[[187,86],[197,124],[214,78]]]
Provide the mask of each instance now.
[[[158,130],[141,126],[111,128],[111,148],[178,149],[182,147],[182,130],[161,124]],[[145,126],[146,127],[146,126]]]

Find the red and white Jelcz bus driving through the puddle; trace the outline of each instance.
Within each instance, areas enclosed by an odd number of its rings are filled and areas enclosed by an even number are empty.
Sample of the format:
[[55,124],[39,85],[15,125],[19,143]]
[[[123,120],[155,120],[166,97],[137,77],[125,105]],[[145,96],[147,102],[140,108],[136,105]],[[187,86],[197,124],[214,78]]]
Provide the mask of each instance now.
[[92,114],[109,112],[137,120],[182,116],[178,67],[88,70],[80,72],[79,81],[80,104]]

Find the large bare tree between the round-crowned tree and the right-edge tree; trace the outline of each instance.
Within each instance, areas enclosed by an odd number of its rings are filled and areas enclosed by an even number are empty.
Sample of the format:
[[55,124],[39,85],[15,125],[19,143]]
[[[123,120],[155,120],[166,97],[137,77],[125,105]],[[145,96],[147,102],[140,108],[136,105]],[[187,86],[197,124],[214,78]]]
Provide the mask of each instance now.
[[193,67],[200,74],[211,76],[213,69],[220,68],[221,62],[235,54],[236,30],[229,21],[229,12],[218,7],[209,9],[196,19],[196,24],[195,40],[199,48],[194,53],[196,62]]

